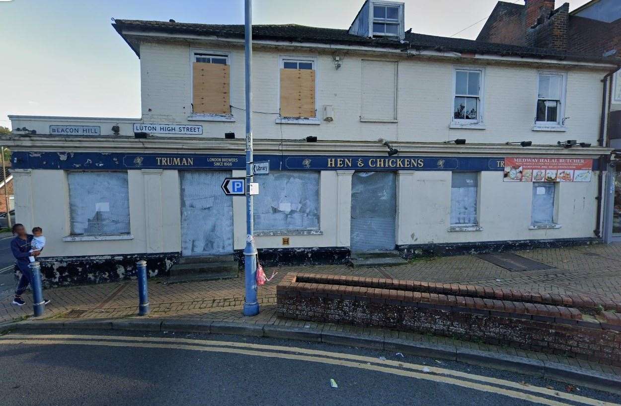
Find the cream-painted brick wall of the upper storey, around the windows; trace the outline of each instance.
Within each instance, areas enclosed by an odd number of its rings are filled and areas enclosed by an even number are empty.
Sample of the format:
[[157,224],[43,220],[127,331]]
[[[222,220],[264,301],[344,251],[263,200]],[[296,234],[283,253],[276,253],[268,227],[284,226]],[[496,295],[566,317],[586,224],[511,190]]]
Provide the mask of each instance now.
[[[244,107],[243,49],[230,52],[233,106]],[[224,137],[233,131],[243,136],[244,112],[233,109],[237,119],[229,122],[189,122],[191,112],[191,70],[189,46],[185,44],[143,43],[140,47],[142,111],[145,122],[202,124],[204,136]],[[278,113],[280,55],[291,52],[255,50],[253,96],[255,111]],[[309,55],[309,53],[301,53]],[[566,132],[533,132],[537,95],[537,68],[525,66],[485,66],[485,130],[449,129],[452,112],[453,68],[464,66],[451,61],[430,61],[420,57],[399,60],[397,123],[360,122],[361,59],[373,56],[348,55],[335,70],[331,55],[317,55],[317,114],[324,104],[332,104],[335,120],[321,125],[278,125],[277,114],[253,116],[257,138],[301,139],[316,135],[330,140],[377,140],[440,142],[466,138],[469,143],[504,143],[532,140],[554,144],[576,139],[596,142],[601,114],[602,71],[567,70]],[[375,57],[376,58],[376,57]],[[393,57],[394,58],[394,57]],[[558,70],[558,69],[555,69]],[[388,84],[387,84],[388,85]],[[322,119],[323,117],[320,117]]]

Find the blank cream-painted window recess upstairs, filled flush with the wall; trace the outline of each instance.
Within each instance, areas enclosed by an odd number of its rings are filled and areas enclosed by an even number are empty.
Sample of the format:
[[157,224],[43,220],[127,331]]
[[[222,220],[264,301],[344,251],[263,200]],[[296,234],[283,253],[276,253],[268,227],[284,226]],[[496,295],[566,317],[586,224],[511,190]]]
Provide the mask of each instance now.
[[397,63],[362,61],[360,119],[397,119]]

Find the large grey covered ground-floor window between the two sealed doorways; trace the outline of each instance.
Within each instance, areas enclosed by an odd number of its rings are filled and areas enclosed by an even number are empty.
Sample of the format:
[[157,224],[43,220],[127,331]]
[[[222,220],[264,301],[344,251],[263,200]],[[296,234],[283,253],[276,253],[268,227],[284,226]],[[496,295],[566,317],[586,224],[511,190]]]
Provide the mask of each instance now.
[[320,173],[272,171],[257,176],[255,230],[319,230]]

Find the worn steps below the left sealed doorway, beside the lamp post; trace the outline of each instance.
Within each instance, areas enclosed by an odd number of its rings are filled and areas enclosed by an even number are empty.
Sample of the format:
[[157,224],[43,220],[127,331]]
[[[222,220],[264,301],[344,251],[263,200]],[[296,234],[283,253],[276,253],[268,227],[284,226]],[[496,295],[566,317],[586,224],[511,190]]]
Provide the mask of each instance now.
[[167,283],[232,279],[239,276],[232,255],[185,256],[171,266]]

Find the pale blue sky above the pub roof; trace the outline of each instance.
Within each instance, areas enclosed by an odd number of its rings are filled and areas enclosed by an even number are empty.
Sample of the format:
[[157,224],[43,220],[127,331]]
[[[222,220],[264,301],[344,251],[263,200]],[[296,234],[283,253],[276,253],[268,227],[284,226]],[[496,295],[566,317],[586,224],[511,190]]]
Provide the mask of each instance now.
[[[446,37],[489,16],[496,5],[403,1],[407,28]],[[570,9],[588,1],[569,0]],[[347,29],[361,4],[255,0],[253,23]],[[111,27],[112,17],[243,24],[243,0],[0,0],[0,125],[10,127],[8,114],[140,117],[140,62]],[[476,38],[484,23],[456,37]]]

